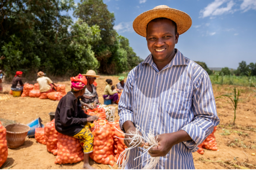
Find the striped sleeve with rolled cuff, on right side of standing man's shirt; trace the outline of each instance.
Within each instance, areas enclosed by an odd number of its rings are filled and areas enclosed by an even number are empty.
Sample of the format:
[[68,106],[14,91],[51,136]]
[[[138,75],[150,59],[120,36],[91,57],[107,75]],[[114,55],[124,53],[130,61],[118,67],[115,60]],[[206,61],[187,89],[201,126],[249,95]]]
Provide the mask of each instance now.
[[194,119],[181,129],[192,138],[190,141],[183,142],[191,152],[197,151],[197,146],[212,133],[214,126],[220,123],[208,74],[203,72],[193,84]]

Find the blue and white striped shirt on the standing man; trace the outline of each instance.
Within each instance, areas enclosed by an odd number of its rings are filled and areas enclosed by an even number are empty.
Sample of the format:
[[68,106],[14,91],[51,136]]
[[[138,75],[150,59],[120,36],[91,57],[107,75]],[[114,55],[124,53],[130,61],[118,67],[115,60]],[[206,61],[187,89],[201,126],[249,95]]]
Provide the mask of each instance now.
[[[151,54],[130,71],[118,105],[119,122],[122,129],[123,123],[130,120],[145,134],[150,128],[155,135],[181,129],[186,131],[192,140],[174,145],[166,156],[160,158],[156,168],[194,169],[192,152],[220,120],[208,74],[175,50],[173,60],[161,71],[158,71]],[[131,150],[132,156],[126,168],[144,167],[150,155],[145,154],[133,161],[143,150],[141,147]]]

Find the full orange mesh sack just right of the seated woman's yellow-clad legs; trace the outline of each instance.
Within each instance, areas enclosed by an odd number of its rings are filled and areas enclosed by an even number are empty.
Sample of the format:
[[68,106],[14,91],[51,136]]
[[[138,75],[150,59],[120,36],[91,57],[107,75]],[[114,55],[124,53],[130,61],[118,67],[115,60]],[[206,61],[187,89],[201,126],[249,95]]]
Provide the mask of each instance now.
[[92,131],[94,135],[93,152],[90,153],[90,157],[97,163],[114,166],[114,140],[111,126],[106,119],[99,119],[94,124],[95,130]]

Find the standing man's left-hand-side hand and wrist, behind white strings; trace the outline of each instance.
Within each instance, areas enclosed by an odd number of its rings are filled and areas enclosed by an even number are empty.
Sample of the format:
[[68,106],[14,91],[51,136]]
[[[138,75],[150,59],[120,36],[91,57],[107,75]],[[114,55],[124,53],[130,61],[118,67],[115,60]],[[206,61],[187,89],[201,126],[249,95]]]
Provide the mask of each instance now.
[[[145,142],[143,141],[142,138],[141,138],[141,139],[138,139],[138,140],[134,140],[134,141],[132,142],[132,137],[133,137],[134,135],[129,135],[129,134],[136,134],[136,128],[135,128],[135,126],[133,125],[133,122],[132,122],[132,121],[129,121],[129,120],[128,120],[128,121],[124,122],[123,128],[124,128],[124,130],[126,131],[126,134],[128,134],[128,135],[124,135],[124,138],[125,138],[124,144],[125,144],[127,147],[132,147],[132,146],[137,145],[137,144],[139,144],[138,147],[143,147],[143,146],[144,146]],[[139,135],[142,136],[141,132],[139,132]],[[132,142],[132,143],[131,143],[131,142]],[[130,144],[130,143],[131,143],[131,144]]]

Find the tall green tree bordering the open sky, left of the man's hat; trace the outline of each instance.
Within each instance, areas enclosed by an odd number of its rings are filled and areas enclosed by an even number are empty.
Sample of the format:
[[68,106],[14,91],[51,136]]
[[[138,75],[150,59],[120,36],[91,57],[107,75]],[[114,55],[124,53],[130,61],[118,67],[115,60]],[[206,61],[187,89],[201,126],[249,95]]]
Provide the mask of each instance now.
[[107,7],[102,0],[82,0],[78,3],[74,16],[81,18],[90,27],[99,26],[101,41],[92,45],[100,63],[99,71],[103,74],[116,74],[132,69],[141,59],[129,46],[128,39],[119,36],[114,30],[115,17]]

